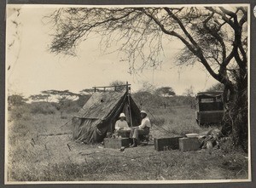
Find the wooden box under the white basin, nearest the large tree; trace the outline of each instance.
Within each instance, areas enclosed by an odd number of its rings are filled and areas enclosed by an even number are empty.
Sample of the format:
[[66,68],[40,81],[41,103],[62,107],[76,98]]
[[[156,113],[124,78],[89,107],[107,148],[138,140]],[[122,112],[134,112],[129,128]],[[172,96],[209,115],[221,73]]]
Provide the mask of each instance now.
[[196,151],[200,149],[200,142],[197,138],[181,138],[178,141],[180,151]]

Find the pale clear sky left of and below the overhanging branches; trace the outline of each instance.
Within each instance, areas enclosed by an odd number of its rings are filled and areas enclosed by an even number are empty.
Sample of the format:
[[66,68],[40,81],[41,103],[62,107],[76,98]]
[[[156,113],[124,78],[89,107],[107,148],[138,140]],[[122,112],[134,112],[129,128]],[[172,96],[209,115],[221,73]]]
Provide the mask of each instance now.
[[[14,5],[12,5],[14,6]],[[19,13],[14,8],[20,8]],[[49,53],[51,27],[43,17],[54,11],[40,5],[15,5],[7,13],[6,82],[8,94],[39,94],[43,90],[68,89],[79,93],[84,88],[108,86],[119,80],[131,83],[136,92],[147,82],[160,88],[169,86],[176,94],[183,94],[193,86],[195,92],[203,91],[217,83],[199,64],[176,66],[176,56],[182,43],[173,40],[165,49],[165,57],[157,70],[145,69],[130,74],[129,65],[121,61],[118,53],[102,54],[99,38],[90,37],[80,43],[77,56]]]

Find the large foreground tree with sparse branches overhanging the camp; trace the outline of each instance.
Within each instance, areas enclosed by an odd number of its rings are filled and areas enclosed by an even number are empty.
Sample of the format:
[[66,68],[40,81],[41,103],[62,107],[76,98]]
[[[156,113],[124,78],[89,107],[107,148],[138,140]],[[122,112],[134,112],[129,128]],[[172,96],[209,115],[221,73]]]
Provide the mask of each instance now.
[[224,84],[235,145],[246,145],[246,7],[73,8],[57,9],[49,18],[55,26],[51,52],[74,55],[79,43],[95,32],[106,47],[119,43],[117,50],[127,54],[131,72],[160,65],[162,39],[177,38],[184,46],[180,64],[201,63]]

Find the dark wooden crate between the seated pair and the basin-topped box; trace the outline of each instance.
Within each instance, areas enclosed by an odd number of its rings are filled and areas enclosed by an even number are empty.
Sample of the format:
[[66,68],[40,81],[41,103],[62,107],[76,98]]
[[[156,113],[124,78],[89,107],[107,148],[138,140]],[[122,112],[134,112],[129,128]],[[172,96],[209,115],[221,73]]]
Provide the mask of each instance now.
[[156,151],[177,150],[178,139],[180,138],[182,138],[182,136],[174,136],[169,138],[155,138],[154,149]]

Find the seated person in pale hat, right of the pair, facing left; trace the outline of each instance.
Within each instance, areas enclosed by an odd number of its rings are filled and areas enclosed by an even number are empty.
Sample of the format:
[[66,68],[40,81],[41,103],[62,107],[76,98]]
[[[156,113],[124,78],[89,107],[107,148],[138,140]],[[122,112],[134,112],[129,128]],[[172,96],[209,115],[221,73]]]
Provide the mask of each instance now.
[[147,117],[147,112],[141,111],[141,117],[143,118],[142,123],[138,127],[131,128],[130,138],[133,139],[133,145],[131,145],[131,147],[137,146],[137,140],[139,135],[149,134],[149,128],[151,127],[151,123],[149,121],[149,118]]

